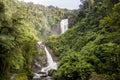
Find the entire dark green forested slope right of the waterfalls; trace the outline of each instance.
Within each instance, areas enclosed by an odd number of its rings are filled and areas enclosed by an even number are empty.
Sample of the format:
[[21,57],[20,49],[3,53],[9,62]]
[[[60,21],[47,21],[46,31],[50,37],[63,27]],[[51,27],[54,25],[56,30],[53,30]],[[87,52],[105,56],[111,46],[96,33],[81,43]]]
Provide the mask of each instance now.
[[59,57],[56,80],[120,80],[120,0],[80,0],[78,22],[46,44]]

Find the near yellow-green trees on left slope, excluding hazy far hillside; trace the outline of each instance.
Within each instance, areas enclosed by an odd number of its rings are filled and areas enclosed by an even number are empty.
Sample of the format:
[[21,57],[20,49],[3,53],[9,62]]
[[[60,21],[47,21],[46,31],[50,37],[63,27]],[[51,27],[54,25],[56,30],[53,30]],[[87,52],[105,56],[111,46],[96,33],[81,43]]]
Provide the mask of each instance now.
[[[4,3],[2,5],[8,8]],[[10,14],[5,10],[0,14],[4,15],[0,16],[3,18],[0,20],[0,79],[8,80],[10,74],[20,72],[25,72],[29,78],[33,57],[37,53],[34,48],[37,32],[24,21],[19,9]]]

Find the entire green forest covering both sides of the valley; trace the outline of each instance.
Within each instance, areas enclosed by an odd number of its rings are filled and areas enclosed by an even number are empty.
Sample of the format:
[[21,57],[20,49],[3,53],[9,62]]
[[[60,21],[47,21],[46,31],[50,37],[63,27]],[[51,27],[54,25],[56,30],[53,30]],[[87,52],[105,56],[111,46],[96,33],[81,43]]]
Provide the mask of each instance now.
[[[39,40],[59,59],[54,80],[120,80],[120,0],[80,2],[67,10],[0,0],[0,80],[32,80]],[[70,29],[59,35],[65,18]]]

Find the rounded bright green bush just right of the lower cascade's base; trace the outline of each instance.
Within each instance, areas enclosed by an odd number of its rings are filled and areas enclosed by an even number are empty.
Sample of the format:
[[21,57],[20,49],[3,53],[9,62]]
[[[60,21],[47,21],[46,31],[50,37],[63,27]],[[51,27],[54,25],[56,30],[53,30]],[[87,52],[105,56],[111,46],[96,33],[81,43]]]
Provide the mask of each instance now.
[[54,77],[61,80],[86,80],[91,72],[92,66],[74,52],[62,58]]

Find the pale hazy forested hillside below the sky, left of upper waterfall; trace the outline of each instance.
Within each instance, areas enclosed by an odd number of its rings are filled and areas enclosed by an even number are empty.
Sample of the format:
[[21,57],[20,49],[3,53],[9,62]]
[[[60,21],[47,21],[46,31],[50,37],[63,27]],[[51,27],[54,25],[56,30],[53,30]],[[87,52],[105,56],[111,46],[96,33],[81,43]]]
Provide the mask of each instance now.
[[[4,0],[3,2],[6,6],[7,14],[14,17],[17,15],[20,18],[24,17],[25,22],[29,23],[37,31],[37,36],[40,39],[46,39],[51,34],[57,33],[56,29],[58,29],[61,19],[72,19],[71,17],[73,16],[73,11],[53,6],[45,7],[32,2],[19,2],[18,0]],[[16,22],[16,20],[13,21]]]

